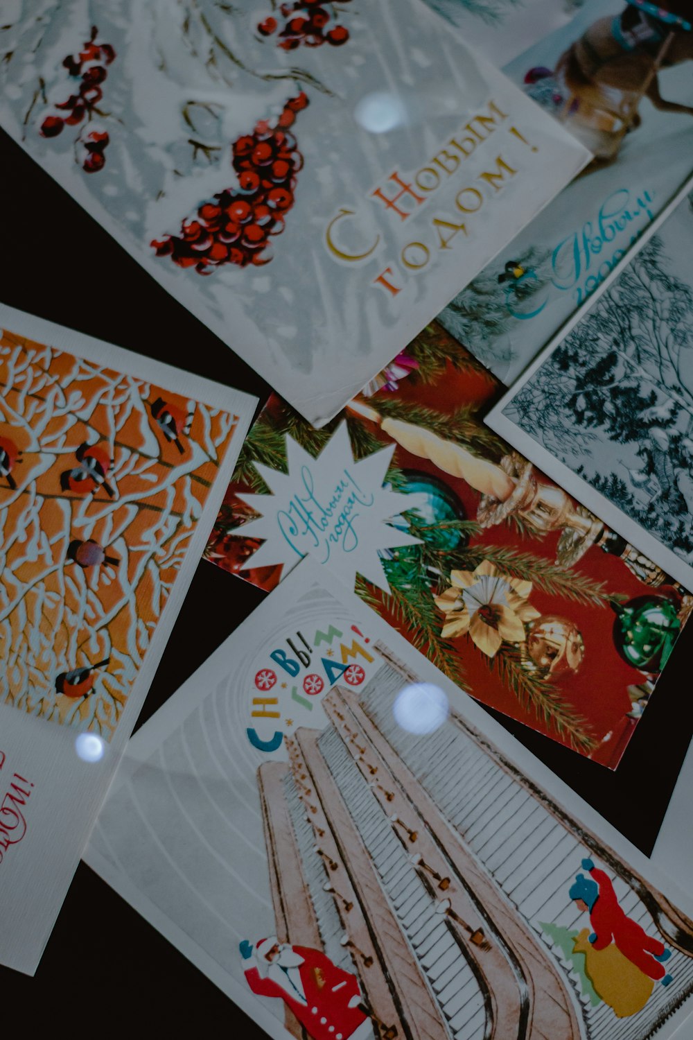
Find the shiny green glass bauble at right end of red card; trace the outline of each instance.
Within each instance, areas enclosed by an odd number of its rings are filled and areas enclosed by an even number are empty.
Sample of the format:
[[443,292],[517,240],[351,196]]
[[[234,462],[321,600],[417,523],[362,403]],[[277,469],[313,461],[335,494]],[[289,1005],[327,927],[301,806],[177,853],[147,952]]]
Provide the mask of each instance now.
[[616,650],[633,668],[658,675],[681,631],[676,604],[666,596],[649,595],[612,605]]

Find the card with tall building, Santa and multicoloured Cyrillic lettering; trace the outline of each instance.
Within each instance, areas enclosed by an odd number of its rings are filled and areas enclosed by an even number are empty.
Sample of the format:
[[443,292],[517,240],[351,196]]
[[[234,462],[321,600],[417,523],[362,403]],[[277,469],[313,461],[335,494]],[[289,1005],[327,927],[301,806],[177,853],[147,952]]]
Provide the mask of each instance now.
[[135,735],[86,861],[277,1040],[691,1010],[690,898],[313,561]]

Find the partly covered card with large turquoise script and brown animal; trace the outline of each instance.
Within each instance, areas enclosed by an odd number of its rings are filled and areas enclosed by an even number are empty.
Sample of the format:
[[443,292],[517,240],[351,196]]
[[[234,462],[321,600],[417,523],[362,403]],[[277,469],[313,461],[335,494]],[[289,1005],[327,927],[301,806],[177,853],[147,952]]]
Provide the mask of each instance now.
[[427,2],[595,156],[438,316],[510,385],[693,171],[693,19],[622,0]]

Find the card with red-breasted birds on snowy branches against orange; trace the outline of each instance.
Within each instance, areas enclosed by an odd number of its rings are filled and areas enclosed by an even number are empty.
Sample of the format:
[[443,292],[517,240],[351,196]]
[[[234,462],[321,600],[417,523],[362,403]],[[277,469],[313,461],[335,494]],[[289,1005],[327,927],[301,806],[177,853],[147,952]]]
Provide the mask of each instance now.
[[256,401],[2,305],[0,330],[0,962],[32,973]]

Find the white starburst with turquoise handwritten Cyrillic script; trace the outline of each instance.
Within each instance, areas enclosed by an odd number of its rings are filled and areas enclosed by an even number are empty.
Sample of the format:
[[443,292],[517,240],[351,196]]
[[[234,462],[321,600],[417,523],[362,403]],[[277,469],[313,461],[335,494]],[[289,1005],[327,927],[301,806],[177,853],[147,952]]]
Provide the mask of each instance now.
[[243,536],[265,540],[246,566],[282,564],[284,577],[311,555],[350,589],[358,573],[390,592],[378,549],[421,541],[401,529],[405,521],[400,514],[425,501],[423,494],[401,494],[382,486],[395,445],[355,462],[346,422],[317,459],[288,435],[286,440],[287,474],[255,464],[271,494],[238,496],[262,514],[243,525]]

